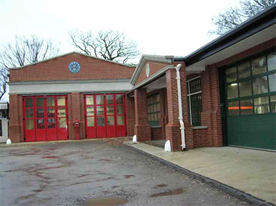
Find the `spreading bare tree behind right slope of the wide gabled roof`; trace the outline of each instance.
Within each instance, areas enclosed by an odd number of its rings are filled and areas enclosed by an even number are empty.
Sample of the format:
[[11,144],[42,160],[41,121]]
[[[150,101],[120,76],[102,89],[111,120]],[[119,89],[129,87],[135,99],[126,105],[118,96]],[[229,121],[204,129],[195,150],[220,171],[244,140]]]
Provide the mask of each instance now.
[[140,54],[137,43],[126,39],[123,33],[117,31],[99,31],[94,37],[92,32],[70,31],[72,45],[77,50],[88,55],[101,56],[103,59],[127,63]]

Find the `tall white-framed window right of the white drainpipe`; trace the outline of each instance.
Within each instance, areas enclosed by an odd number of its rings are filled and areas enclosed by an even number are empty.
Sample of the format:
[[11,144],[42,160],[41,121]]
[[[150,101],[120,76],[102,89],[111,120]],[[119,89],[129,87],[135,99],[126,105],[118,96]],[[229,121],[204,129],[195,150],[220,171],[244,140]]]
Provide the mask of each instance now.
[[[231,78],[235,79],[235,74],[229,72]],[[202,112],[202,100],[201,100],[201,79],[197,77],[187,81],[187,96],[188,96],[188,117],[190,124],[193,126],[201,125],[201,112]]]

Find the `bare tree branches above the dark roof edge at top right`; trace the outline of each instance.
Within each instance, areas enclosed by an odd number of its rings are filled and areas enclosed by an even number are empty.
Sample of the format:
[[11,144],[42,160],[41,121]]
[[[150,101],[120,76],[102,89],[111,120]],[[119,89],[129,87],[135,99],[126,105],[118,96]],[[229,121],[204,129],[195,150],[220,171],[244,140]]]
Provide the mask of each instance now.
[[275,2],[276,0],[241,0],[239,1],[239,6],[230,7],[214,17],[212,20],[217,29],[210,30],[208,33],[225,34]]

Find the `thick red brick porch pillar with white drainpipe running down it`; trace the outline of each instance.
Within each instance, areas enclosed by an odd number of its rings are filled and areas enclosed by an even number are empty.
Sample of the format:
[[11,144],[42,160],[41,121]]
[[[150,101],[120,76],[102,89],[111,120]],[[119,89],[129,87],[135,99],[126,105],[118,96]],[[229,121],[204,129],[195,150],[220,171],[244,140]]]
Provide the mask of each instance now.
[[[186,149],[193,148],[193,127],[188,123],[188,101],[186,90],[186,70],[182,67],[181,76],[181,101],[185,125]],[[166,72],[168,124],[166,125],[166,139],[170,141],[172,151],[181,150],[181,130],[179,123],[179,106],[177,94],[177,71],[170,69]]]

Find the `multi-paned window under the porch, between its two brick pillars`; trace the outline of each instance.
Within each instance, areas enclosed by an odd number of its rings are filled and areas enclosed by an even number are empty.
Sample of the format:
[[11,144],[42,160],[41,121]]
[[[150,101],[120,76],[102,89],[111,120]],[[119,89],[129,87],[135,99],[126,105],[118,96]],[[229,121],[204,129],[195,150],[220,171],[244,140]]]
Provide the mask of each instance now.
[[148,106],[148,123],[151,126],[159,126],[160,119],[160,96],[154,94],[147,98]]

